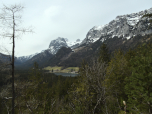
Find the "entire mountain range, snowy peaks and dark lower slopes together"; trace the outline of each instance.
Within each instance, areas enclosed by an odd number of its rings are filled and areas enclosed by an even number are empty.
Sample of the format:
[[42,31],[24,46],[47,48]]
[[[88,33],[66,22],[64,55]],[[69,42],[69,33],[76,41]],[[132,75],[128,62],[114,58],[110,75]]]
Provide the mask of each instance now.
[[37,61],[45,66],[79,66],[83,59],[97,55],[102,43],[106,43],[109,51],[121,48],[127,50],[138,44],[151,41],[152,27],[149,19],[142,17],[152,13],[152,8],[138,13],[117,16],[103,26],[91,28],[84,40],[69,42],[67,38],[58,37],[50,42],[48,49],[30,56],[16,58],[17,66],[32,66]]

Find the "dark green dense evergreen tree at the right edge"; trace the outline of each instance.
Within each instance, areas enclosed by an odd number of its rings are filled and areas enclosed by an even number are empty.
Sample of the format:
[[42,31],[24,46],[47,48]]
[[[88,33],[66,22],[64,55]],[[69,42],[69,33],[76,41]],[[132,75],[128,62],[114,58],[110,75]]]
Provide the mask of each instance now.
[[138,47],[130,59],[131,76],[126,78],[125,92],[132,113],[152,113],[152,44]]

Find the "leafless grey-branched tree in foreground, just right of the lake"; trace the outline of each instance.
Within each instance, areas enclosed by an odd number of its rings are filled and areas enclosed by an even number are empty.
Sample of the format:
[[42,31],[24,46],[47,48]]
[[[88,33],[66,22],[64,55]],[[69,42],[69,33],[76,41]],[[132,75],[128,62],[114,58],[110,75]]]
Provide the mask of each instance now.
[[105,79],[106,79],[106,68],[107,64],[105,62],[99,62],[97,58],[92,59],[91,65],[86,67],[86,83],[91,86],[91,88],[97,93],[96,105],[94,106],[92,113],[98,109],[98,105],[104,105],[105,114],[108,114],[106,105],[106,91]]

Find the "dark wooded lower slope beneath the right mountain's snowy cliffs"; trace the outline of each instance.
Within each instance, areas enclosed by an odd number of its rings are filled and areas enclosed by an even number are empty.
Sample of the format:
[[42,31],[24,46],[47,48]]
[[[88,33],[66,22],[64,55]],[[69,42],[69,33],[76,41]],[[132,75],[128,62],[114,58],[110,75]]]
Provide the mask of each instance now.
[[[54,58],[49,59],[46,66],[64,66],[64,67],[75,67],[81,66],[83,60],[89,62],[92,58],[98,57],[98,52],[102,44],[107,44],[109,49],[109,53],[113,53],[115,50],[121,49],[124,52],[128,51],[129,49],[134,49],[138,45],[143,43],[152,43],[152,34],[141,36],[137,35],[131,39],[123,39],[123,37],[109,38],[103,42],[100,40],[91,43],[90,45],[80,46],[74,49],[72,52],[66,54],[65,56],[58,59],[58,55],[54,56]],[[52,61],[53,60],[53,61]]]

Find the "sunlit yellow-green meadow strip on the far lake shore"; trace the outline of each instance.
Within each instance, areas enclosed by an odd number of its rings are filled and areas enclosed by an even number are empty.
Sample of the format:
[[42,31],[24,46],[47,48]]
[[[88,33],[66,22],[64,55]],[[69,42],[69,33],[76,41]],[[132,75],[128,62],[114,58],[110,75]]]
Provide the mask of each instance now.
[[68,67],[68,68],[65,68],[63,69],[63,67],[58,67],[58,66],[55,66],[55,67],[51,67],[51,66],[48,66],[48,67],[45,67],[44,70],[49,70],[52,72],[64,72],[64,73],[67,73],[67,72],[78,72],[79,71],[79,67]]

